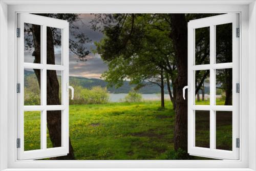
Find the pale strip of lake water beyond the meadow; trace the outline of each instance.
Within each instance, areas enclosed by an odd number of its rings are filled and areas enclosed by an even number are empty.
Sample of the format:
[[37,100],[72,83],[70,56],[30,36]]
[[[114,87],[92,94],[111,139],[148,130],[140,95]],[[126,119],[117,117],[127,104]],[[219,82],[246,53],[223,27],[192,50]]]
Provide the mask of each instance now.
[[[110,93],[111,102],[120,102],[128,93]],[[160,100],[160,94],[141,94],[143,100]],[[164,94],[165,99],[170,99],[168,94]]]

